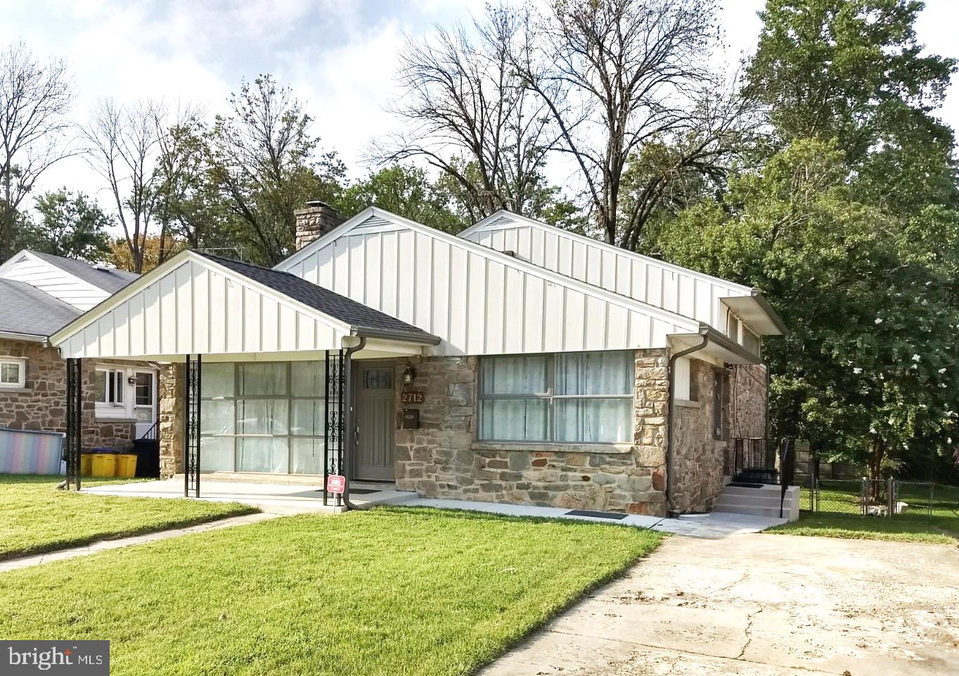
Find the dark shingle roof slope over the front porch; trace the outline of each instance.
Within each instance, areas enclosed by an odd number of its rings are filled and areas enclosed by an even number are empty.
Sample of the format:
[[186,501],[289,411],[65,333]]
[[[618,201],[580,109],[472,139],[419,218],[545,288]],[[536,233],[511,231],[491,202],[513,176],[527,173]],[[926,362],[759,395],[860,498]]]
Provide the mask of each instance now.
[[381,313],[379,310],[374,310],[352,298],[316,286],[316,284],[290,272],[261,268],[250,263],[242,263],[202,251],[196,251],[196,253],[355,328],[407,334],[409,338],[422,339],[432,343],[439,341],[439,338],[405,321]]

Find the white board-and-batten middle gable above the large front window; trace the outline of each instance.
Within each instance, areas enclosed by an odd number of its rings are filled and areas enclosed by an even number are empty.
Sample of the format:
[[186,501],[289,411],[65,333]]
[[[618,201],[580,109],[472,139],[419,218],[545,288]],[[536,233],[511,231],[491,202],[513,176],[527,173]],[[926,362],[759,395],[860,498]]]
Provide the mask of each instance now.
[[439,355],[666,347],[696,322],[385,212],[277,266],[432,333]]

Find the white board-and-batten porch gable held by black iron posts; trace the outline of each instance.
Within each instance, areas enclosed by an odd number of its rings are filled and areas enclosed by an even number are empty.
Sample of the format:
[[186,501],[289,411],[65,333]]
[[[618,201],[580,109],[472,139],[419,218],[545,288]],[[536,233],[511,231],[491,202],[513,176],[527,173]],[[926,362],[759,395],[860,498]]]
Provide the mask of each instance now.
[[59,347],[77,358],[325,350],[348,332],[188,258]]

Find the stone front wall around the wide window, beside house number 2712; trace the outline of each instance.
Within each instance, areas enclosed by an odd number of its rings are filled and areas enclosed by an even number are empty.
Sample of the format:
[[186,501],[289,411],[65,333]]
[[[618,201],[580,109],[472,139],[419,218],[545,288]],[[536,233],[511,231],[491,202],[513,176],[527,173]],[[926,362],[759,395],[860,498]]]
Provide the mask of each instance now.
[[[400,382],[406,361],[397,363]],[[476,441],[477,358],[412,360],[419,430],[397,430],[400,490],[426,497],[666,514],[667,353],[636,353],[632,444]],[[397,392],[397,427],[402,405]]]

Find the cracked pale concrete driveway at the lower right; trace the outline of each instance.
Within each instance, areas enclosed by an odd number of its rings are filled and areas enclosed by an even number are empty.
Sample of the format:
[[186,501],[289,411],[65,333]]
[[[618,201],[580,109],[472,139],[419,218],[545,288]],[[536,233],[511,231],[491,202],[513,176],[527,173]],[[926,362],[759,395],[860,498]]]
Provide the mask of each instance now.
[[670,537],[482,676],[959,674],[959,548]]

